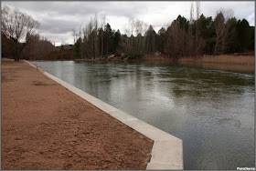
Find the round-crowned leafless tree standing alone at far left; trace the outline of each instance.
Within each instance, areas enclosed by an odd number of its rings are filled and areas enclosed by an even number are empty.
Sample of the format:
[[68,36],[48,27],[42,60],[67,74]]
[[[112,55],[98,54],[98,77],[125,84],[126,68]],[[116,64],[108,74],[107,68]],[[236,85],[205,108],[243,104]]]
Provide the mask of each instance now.
[[21,52],[26,45],[33,42],[34,35],[38,34],[39,23],[30,15],[15,9],[11,11],[9,7],[2,9],[1,29],[2,33],[13,40],[14,58],[19,60]]

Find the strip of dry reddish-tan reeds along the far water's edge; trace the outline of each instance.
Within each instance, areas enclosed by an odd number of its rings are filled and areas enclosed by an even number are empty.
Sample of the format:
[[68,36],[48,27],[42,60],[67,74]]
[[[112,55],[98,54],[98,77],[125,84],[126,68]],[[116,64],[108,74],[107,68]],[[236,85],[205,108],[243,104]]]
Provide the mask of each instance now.
[[95,58],[95,59],[75,59],[75,61],[108,61],[108,62],[147,62],[147,63],[178,63],[180,65],[190,65],[204,69],[217,69],[226,71],[237,71],[254,73],[254,55],[203,55],[198,57],[183,57],[179,59],[166,57],[163,55],[144,55],[141,58],[125,59],[119,57]]

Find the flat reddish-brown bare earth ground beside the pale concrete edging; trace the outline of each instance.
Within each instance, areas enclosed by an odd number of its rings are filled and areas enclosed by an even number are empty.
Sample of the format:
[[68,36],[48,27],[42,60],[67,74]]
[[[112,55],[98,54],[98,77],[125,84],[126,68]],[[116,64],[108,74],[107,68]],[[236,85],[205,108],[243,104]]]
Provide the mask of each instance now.
[[2,61],[2,169],[145,169],[153,141],[25,62]]

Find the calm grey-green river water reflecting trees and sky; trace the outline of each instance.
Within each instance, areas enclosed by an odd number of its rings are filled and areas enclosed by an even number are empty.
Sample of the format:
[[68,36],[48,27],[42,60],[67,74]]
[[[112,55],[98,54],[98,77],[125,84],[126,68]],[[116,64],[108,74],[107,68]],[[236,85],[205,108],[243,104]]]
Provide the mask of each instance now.
[[253,73],[173,63],[32,64],[181,138],[185,169],[255,166]]

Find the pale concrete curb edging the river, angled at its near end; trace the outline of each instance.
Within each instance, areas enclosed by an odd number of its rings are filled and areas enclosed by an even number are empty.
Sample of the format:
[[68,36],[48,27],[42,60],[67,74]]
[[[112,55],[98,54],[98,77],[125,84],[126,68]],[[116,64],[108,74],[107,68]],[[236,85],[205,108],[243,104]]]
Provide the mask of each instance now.
[[146,124],[145,122],[137,119],[136,117],[130,116],[123,111],[102,102],[100,99],[81,91],[73,85],[69,85],[68,83],[60,80],[58,77],[48,74],[44,70],[40,69],[38,66],[32,65],[29,62],[27,62],[27,64],[33,66],[34,68],[37,68],[37,70],[42,72],[44,75],[47,75],[49,78],[56,81],[60,85],[68,88],[71,92],[88,101],[93,106],[100,108],[102,111],[123,122],[123,124],[125,124],[126,126],[130,126],[144,136],[147,136],[150,139],[154,140],[151,159],[146,166],[147,170],[184,169],[183,143],[181,139],[165,133],[164,131],[156,128],[155,126]]

